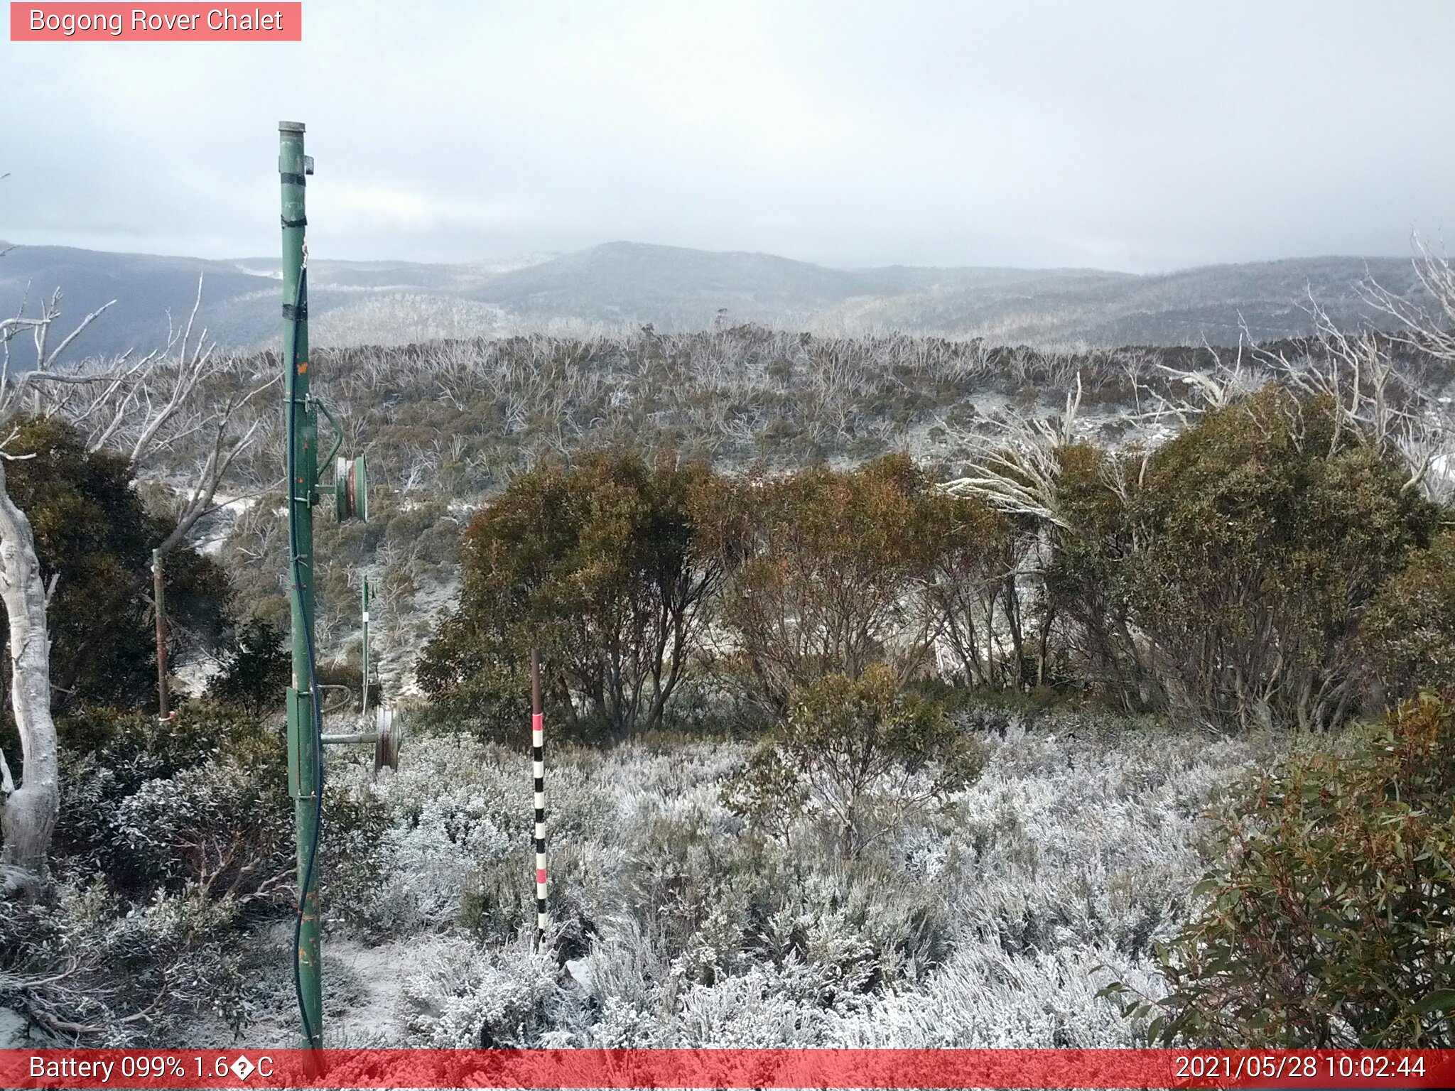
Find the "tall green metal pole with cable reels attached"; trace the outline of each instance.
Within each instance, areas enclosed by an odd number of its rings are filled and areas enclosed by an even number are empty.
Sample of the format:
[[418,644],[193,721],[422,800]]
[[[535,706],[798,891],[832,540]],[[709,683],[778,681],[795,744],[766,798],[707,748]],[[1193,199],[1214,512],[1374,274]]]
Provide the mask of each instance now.
[[298,291],[304,255],[304,176],[311,164],[303,154],[303,125],[278,122],[278,173],[282,182],[282,362],[290,461],[288,508],[295,519],[290,540],[292,594],[292,685],[288,688],[288,788],[298,826],[298,994],[304,1014],[304,1044],[323,1046],[323,976],[319,962],[319,781],[313,703],[313,503],[319,483],[319,422],[308,400],[307,289]]

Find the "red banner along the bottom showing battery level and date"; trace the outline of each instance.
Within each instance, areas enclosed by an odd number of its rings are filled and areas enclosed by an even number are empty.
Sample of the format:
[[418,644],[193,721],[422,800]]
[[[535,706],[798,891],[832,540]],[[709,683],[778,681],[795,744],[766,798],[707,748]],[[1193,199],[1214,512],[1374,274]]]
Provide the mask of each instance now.
[[7,1088],[1435,1088],[1455,1050],[0,1050]]

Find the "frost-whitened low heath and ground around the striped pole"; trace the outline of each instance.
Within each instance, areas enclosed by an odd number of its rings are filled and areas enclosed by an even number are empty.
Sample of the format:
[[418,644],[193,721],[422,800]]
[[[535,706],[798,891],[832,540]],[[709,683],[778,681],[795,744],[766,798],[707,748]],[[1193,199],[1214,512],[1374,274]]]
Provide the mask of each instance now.
[[[1113,975],[1160,992],[1151,947],[1196,908],[1208,802],[1275,746],[1062,713],[986,746],[975,784],[850,863],[812,823],[744,829],[720,799],[736,743],[554,751],[559,957],[527,941],[524,752],[423,736],[375,786],[340,765],[335,783],[371,793],[390,826],[383,882],[326,906],[330,1040],[1132,1044],[1094,994]],[[291,930],[253,943],[276,989],[246,1040],[287,1044]]]

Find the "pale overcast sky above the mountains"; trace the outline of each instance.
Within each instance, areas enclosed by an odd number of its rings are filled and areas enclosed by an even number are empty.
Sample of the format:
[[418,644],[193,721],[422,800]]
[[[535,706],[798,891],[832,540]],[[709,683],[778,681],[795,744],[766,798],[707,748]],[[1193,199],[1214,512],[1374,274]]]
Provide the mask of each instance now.
[[1406,255],[1455,234],[1452,44],[1443,0],[304,0],[301,44],[0,42],[0,239],[271,255],[287,118],[329,257]]

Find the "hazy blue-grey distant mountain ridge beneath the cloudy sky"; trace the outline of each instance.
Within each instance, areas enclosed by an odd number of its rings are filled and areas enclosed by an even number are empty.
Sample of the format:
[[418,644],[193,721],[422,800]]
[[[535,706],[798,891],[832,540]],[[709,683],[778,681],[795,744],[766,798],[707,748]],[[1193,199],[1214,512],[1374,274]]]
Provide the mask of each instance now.
[[[0,244],[3,249],[3,244]],[[202,319],[226,348],[278,333],[278,262],[208,260],[16,246],[0,257],[0,313],[57,287],[79,320],[108,300],[77,349],[113,353],[162,343],[167,311],[186,317],[204,275]],[[1212,265],[1173,273],[1100,269],[831,269],[764,253],[605,243],[515,262],[431,265],[333,262],[308,268],[313,340],[409,343],[514,332],[586,332],[652,323],[688,330],[726,320],[818,333],[902,330],[991,342],[1056,345],[1231,343],[1308,330],[1310,294],[1336,320],[1372,317],[1358,285],[1414,294],[1413,265],[1394,257],[1308,257]]]

